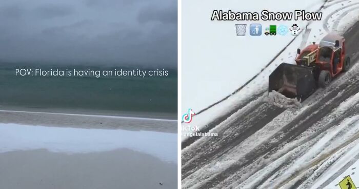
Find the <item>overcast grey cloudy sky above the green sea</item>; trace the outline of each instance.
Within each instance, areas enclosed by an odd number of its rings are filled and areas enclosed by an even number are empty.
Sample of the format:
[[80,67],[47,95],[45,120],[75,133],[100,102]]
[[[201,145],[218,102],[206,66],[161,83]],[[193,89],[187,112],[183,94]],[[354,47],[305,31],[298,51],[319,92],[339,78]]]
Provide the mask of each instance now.
[[176,0],[2,0],[0,61],[177,65]]

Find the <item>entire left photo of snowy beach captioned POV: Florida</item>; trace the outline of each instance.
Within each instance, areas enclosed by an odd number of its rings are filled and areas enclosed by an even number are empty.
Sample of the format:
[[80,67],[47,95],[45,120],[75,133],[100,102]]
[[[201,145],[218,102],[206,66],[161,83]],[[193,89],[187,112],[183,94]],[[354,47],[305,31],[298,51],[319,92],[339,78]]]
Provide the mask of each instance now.
[[177,1],[0,2],[0,188],[177,188]]

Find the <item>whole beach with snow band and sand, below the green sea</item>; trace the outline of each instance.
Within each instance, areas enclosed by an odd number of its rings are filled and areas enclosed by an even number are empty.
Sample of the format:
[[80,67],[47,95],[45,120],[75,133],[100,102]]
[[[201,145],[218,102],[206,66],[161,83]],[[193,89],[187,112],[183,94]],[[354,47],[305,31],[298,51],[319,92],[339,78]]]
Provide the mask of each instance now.
[[175,120],[14,110],[0,118],[0,188],[177,185]]

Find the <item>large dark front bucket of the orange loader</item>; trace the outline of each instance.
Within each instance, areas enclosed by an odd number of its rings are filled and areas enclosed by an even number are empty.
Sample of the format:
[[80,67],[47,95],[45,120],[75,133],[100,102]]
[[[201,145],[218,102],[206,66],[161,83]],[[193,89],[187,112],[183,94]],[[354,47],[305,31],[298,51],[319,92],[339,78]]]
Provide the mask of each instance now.
[[313,68],[282,63],[269,75],[268,91],[304,100],[316,89]]

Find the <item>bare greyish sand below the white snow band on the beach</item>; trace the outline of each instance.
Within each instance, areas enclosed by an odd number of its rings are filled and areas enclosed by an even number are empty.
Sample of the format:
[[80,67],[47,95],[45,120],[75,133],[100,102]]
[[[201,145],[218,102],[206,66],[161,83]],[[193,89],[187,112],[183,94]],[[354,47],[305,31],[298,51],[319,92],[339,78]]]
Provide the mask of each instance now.
[[129,149],[7,152],[0,153],[0,188],[177,188],[177,165]]

